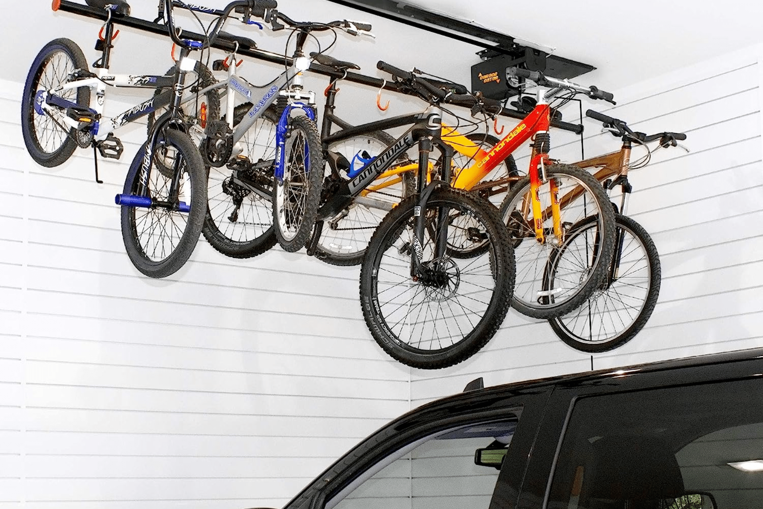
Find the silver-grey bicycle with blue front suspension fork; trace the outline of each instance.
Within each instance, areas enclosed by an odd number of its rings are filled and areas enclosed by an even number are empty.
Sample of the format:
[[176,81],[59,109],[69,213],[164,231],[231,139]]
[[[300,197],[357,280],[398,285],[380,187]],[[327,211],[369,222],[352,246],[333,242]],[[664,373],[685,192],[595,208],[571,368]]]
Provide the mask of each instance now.
[[[224,15],[208,8],[192,9]],[[224,118],[207,120],[206,135],[201,136],[201,153],[209,168],[202,233],[214,249],[232,258],[260,255],[276,243],[286,251],[298,251],[307,241],[324,163],[314,126],[315,94],[302,86],[302,73],[310,66],[304,44],[313,31],[340,29],[359,35],[371,30],[370,24],[357,21],[298,22],[275,10],[265,21],[274,31],[286,24],[298,34],[291,63],[285,59],[285,72],[266,85],[251,85],[237,73],[241,61],[234,49],[213,63],[213,69],[226,71],[227,78],[199,91],[222,90],[227,96]],[[320,58],[320,53],[311,56]],[[235,104],[237,95],[246,102]],[[292,116],[295,110],[302,115]],[[307,200],[311,189],[316,191]]]

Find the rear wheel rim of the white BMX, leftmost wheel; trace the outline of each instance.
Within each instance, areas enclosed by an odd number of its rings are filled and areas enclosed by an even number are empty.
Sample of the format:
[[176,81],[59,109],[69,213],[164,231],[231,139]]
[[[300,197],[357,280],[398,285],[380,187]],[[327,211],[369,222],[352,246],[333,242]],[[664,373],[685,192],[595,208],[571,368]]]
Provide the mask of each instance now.
[[[40,65],[40,69],[34,78],[33,97],[37,100],[40,91],[47,91],[69,82],[69,74],[76,69],[74,60],[64,50],[56,50]],[[77,102],[77,89],[72,88],[63,91],[61,98]],[[33,104],[29,105],[29,115],[33,126],[32,134],[37,146],[47,154],[58,152],[66,139],[69,138],[70,129],[63,129],[53,120],[47,112],[38,114]]]

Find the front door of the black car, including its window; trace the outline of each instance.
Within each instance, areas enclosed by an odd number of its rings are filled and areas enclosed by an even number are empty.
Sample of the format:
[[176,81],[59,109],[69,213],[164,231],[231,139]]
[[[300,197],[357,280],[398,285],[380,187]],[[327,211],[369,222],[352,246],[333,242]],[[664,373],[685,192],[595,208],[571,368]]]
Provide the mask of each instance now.
[[513,507],[550,392],[492,388],[425,405],[350,450],[285,509],[489,509],[496,498]]

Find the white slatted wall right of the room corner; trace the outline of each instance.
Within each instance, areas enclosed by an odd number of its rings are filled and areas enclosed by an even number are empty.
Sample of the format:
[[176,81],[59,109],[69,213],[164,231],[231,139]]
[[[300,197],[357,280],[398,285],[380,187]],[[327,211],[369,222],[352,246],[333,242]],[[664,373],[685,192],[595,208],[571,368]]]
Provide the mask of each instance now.
[[[629,216],[652,235],[662,263],[658,304],[636,338],[591,359],[545,322],[512,310],[472,359],[438,373],[414,370],[411,404],[459,392],[477,376],[497,385],[763,344],[761,55],[749,48],[616,90],[617,107],[584,104],[634,130],[685,132],[691,149],[656,152],[649,166],[629,174]],[[576,110],[565,120],[574,121]],[[600,123],[585,125],[587,157],[620,149],[618,139],[598,134]],[[633,149],[631,161],[639,153]],[[552,155],[578,161],[579,138],[552,131]]]

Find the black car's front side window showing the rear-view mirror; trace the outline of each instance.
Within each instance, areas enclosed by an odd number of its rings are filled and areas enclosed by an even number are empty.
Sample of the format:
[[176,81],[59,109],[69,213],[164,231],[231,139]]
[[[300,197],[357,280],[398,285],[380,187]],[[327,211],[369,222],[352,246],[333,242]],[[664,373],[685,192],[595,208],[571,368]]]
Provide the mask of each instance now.
[[[515,417],[442,431],[411,443],[327,501],[327,509],[488,509],[517,427]],[[488,449],[483,465],[475,453]],[[497,461],[495,460],[497,458]]]

